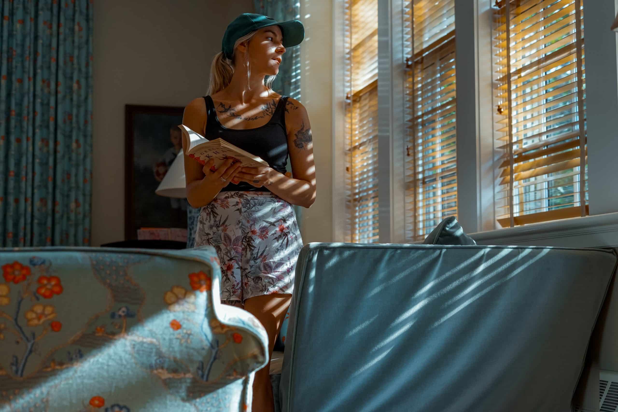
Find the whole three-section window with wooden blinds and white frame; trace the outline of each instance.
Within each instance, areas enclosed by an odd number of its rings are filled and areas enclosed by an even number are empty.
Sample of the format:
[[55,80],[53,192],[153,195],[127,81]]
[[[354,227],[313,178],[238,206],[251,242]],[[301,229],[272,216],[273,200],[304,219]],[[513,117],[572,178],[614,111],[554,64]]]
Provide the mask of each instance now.
[[447,216],[474,233],[616,211],[603,182],[618,169],[616,39],[586,30],[586,90],[583,26],[615,2],[508,1],[337,0],[334,240],[418,242]]

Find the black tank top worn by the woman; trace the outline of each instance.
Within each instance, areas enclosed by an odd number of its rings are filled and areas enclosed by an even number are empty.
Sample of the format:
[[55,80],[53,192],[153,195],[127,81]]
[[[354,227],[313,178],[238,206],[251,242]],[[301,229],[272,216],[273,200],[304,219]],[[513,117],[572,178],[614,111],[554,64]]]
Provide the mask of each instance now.
[[[286,100],[288,96],[281,96],[273,117],[263,126],[237,130],[227,128],[219,122],[213,99],[204,96],[206,101],[206,135],[208,140],[221,138],[234,146],[260,156],[268,165],[280,173],[286,173],[287,166],[287,128],[286,128]],[[270,191],[266,187],[255,187],[247,182],[238,185],[229,183],[221,191]]]

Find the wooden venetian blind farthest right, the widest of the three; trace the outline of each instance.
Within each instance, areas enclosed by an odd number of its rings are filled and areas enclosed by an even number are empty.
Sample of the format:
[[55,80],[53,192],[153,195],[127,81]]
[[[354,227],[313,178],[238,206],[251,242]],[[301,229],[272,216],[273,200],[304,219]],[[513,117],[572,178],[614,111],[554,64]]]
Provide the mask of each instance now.
[[497,2],[496,217],[502,227],[586,216],[582,0]]

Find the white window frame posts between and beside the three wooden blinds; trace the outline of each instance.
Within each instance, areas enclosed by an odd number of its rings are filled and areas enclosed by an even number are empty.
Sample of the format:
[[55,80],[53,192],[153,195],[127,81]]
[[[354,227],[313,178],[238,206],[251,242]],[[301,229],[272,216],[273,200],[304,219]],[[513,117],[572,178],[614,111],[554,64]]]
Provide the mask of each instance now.
[[[595,22],[585,27],[586,41],[586,130],[588,135],[588,193],[590,216],[544,222],[524,227],[501,228],[496,221],[494,194],[497,189],[497,159],[493,132],[493,79],[491,8],[494,0],[455,0],[455,50],[457,57],[457,219],[479,240],[499,244],[504,238],[536,233],[582,230],[582,225],[606,230],[617,221],[618,190],[608,190],[607,176],[618,179],[618,35],[610,26],[616,15],[614,0],[582,0],[584,17]],[[345,233],[343,123],[344,62],[341,59],[344,28],[343,0],[333,6],[332,88],[332,239],[342,242]],[[403,0],[378,0],[378,139],[379,242],[405,243],[405,130],[403,55]],[[607,23],[607,24],[605,24]],[[616,93],[607,93],[615,90]],[[461,120],[460,120],[461,118]],[[614,161],[612,161],[612,153]],[[605,215],[605,216],[598,216]],[[591,217],[594,217],[591,219]],[[588,219],[582,221],[580,219]],[[606,221],[609,225],[599,225]],[[605,228],[605,229],[603,229]],[[542,230],[541,230],[542,229]],[[590,229],[595,232],[597,229]],[[591,232],[591,233],[592,233]],[[544,233],[544,234],[543,234]],[[618,245],[618,231],[604,242]],[[607,238],[607,236],[605,237]]]

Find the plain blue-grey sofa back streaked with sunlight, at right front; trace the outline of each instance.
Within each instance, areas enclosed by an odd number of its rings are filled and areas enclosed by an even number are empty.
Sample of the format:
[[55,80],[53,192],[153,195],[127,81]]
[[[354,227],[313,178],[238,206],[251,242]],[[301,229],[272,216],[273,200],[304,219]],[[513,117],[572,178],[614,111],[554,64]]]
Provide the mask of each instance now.
[[570,411],[616,263],[608,250],[310,243],[278,407]]

